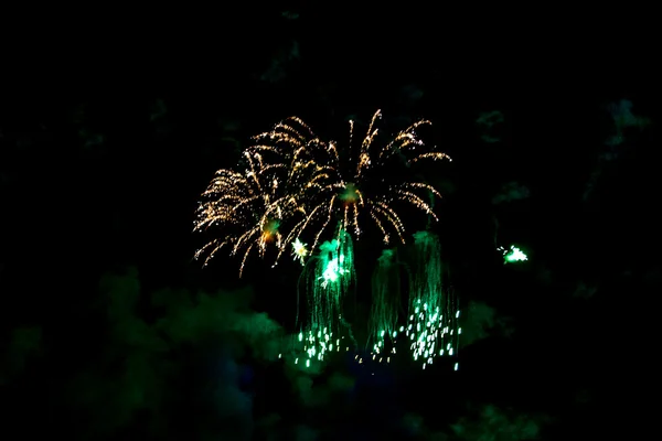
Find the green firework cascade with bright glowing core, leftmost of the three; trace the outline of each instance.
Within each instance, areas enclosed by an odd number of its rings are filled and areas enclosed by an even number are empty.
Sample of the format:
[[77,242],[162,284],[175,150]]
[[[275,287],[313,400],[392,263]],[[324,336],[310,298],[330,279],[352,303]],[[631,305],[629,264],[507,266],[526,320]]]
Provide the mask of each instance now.
[[[330,352],[349,351],[341,331],[349,325],[342,318],[342,303],[354,279],[354,251],[350,235],[340,228],[337,239],[324,241],[305,268],[308,320],[298,335],[303,353],[296,364],[323,362]],[[352,338],[350,332],[350,338]]]

